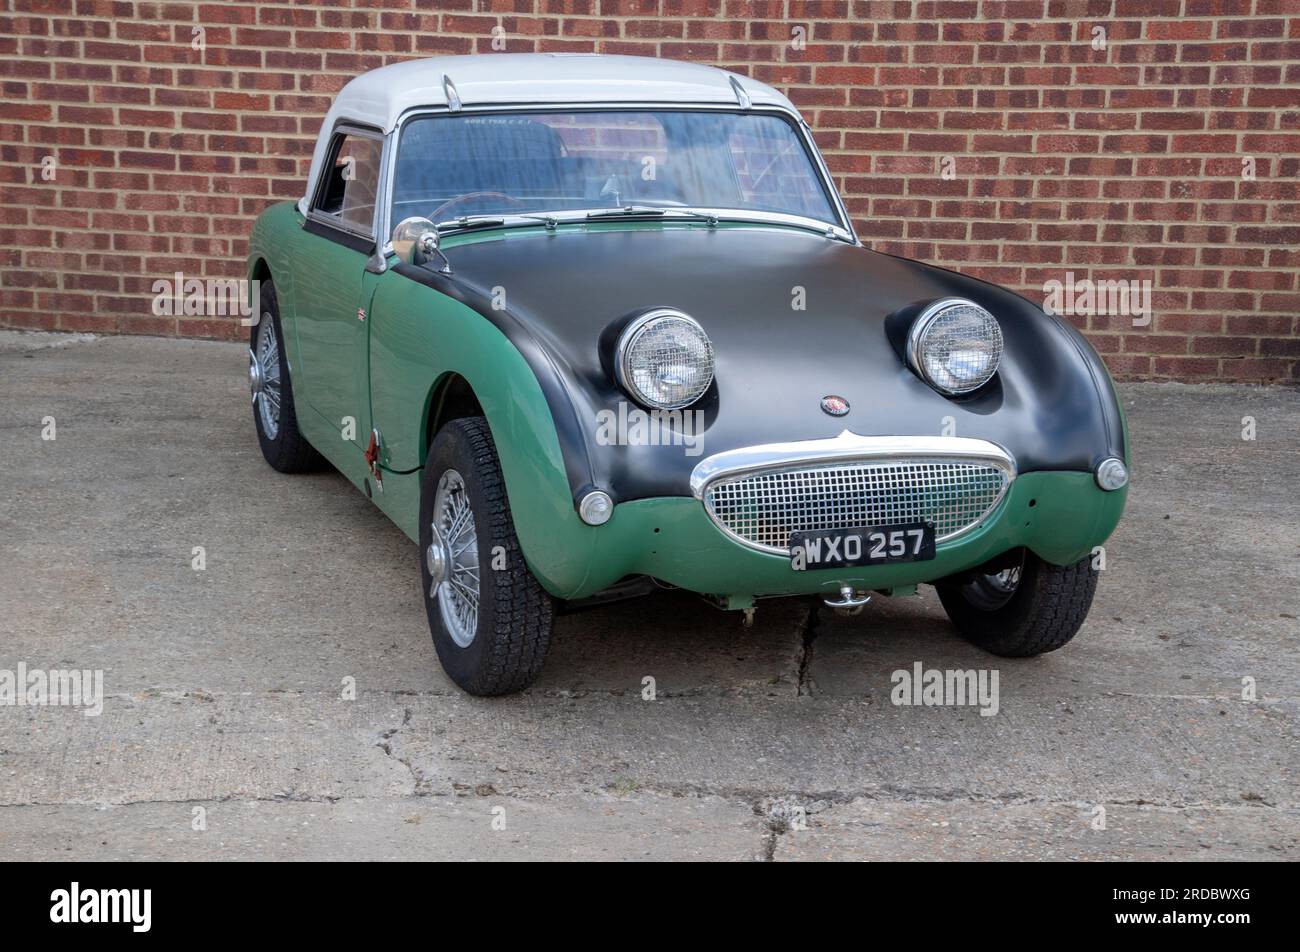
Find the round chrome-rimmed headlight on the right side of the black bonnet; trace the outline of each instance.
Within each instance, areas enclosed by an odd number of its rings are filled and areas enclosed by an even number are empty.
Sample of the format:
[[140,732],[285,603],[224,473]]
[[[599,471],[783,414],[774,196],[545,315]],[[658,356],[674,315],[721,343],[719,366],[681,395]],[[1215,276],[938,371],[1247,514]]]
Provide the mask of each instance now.
[[1002,329],[997,319],[970,300],[931,304],[907,336],[907,360],[942,393],[978,390],[997,372],[1001,359]]

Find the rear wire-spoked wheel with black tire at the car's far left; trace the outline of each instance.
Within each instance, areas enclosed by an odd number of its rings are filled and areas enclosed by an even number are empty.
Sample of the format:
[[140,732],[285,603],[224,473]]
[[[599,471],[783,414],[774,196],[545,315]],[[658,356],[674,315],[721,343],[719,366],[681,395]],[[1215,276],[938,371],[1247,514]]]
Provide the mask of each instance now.
[[280,302],[270,281],[261,282],[260,303],[261,320],[248,339],[248,390],[257,443],[273,469],[307,472],[320,466],[321,456],[298,429]]

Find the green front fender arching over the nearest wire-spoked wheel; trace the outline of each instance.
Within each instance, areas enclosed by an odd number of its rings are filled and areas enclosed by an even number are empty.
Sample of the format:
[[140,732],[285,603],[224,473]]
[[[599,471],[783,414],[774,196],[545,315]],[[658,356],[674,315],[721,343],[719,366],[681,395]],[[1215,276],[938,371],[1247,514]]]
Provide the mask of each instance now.
[[[472,307],[395,272],[376,289],[370,315],[370,408],[386,468],[424,466],[434,397],[448,375],[464,377],[497,442],[528,567],[551,594],[581,590],[597,533],[573,509],[550,407],[515,345]],[[417,538],[419,493],[408,496],[391,515]]]

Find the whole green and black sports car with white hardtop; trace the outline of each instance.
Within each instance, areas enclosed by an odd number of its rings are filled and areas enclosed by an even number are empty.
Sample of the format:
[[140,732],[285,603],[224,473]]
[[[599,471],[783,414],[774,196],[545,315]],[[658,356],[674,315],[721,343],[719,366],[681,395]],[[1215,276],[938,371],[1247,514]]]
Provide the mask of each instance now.
[[1009,657],[1060,648],[1123,511],[1124,419],[1080,334],[858,241],[809,126],[719,69],[403,62],[325,117],[254,229],[266,462],[324,456],[420,548],[476,694],[559,609],[932,584]]

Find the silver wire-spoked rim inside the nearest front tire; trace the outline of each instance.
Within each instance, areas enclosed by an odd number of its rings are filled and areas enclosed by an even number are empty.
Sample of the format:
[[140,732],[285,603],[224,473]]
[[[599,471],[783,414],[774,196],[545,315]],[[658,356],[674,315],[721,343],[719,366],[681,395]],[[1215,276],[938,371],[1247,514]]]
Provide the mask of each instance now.
[[429,597],[438,600],[451,640],[468,648],[478,631],[478,532],[465,480],[455,469],[438,480],[429,528]]

